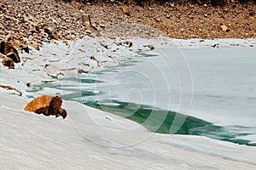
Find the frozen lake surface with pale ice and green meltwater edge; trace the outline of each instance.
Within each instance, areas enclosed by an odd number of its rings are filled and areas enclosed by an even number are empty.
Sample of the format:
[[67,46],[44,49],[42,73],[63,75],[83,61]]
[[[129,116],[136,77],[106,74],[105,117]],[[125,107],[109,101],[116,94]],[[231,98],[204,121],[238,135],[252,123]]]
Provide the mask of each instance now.
[[256,48],[148,51],[94,74],[35,87],[142,123],[148,131],[256,146]]

